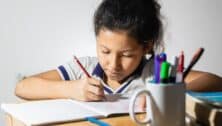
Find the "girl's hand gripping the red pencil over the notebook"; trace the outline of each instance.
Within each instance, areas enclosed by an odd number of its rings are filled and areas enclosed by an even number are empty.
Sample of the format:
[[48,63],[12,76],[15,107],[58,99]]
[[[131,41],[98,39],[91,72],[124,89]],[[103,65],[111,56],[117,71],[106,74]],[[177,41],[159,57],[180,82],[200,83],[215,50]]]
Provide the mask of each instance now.
[[105,97],[103,85],[98,79],[86,77],[78,80],[75,86],[74,93],[76,98],[74,99],[81,101],[100,101]]

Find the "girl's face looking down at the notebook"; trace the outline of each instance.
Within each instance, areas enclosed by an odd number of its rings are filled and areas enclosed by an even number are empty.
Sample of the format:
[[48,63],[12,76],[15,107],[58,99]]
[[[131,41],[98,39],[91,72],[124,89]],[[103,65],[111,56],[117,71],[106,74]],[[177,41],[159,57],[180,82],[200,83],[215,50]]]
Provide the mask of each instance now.
[[107,80],[122,82],[133,73],[148,51],[124,31],[100,30],[97,56]]

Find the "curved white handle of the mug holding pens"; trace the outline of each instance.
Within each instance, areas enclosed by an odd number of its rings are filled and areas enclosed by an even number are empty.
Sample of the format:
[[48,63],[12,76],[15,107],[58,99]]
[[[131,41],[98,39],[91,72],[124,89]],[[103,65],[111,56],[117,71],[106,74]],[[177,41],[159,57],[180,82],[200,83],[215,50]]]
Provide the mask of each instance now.
[[[135,92],[132,97],[131,97],[131,100],[130,100],[130,104],[129,104],[129,114],[130,114],[130,117],[131,119],[136,122],[137,124],[139,125],[146,125],[146,124],[150,124],[151,123],[151,118],[148,117],[146,115],[146,118],[143,120],[143,121],[139,121],[136,117],[135,117],[135,102],[136,102],[136,99],[139,95],[141,94],[145,94],[146,96],[148,97],[151,97],[151,94],[150,94],[150,91],[147,90],[147,89],[140,89],[138,90],[137,92]],[[147,105],[146,105],[147,106]]]

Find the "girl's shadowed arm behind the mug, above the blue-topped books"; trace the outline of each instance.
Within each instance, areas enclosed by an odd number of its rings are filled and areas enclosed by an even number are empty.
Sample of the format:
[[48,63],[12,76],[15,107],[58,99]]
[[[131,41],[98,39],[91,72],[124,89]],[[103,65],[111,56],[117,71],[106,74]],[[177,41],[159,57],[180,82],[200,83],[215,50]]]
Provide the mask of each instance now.
[[191,71],[185,82],[192,91],[222,91],[222,78],[212,73]]

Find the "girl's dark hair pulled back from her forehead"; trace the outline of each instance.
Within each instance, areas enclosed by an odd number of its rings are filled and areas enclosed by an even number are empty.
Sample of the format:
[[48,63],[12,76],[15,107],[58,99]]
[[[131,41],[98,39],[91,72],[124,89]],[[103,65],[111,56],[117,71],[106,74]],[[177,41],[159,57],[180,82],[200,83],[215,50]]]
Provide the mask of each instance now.
[[139,43],[162,40],[160,5],[155,0],[103,0],[94,14],[94,30],[125,30]]

